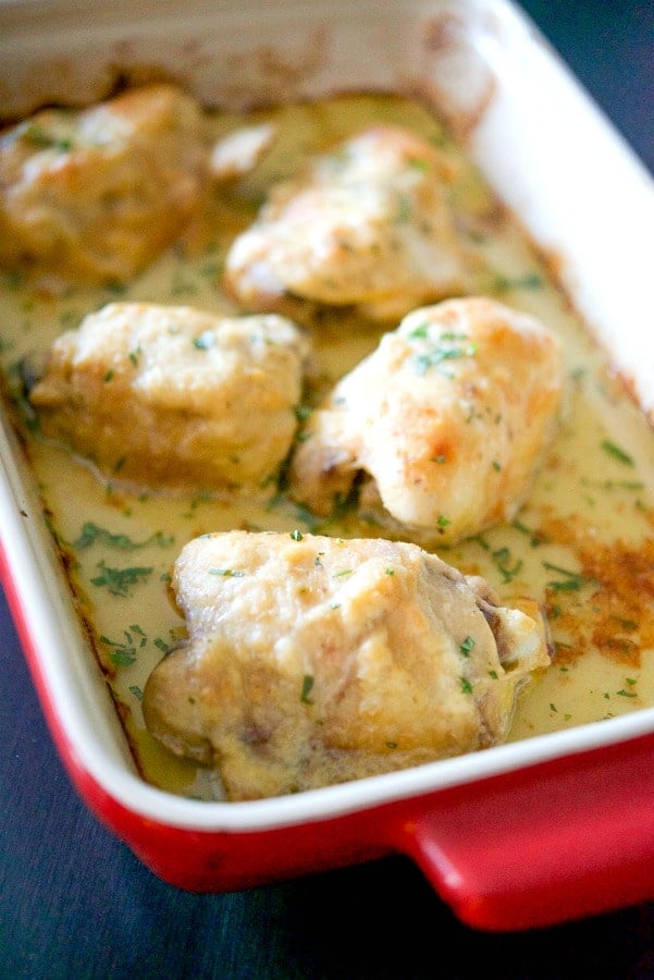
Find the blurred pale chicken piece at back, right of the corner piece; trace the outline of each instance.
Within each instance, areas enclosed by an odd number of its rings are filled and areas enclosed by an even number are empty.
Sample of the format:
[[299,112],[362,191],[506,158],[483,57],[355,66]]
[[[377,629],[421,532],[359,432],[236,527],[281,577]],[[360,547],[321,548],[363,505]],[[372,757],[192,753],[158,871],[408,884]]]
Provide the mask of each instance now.
[[246,307],[285,295],[356,305],[373,319],[462,291],[465,258],[441,154],[397,126],[373,126],[274,186],[233,243],[224,285]]

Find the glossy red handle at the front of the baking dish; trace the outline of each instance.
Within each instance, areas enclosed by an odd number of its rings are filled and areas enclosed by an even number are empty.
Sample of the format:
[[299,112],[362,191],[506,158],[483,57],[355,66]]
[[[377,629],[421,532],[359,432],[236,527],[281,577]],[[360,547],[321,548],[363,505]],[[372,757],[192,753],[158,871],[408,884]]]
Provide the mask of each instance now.
[[476,929],[545,927],[650,901],[653,752],[649,735],[447,789],[403,823],[399,849]]

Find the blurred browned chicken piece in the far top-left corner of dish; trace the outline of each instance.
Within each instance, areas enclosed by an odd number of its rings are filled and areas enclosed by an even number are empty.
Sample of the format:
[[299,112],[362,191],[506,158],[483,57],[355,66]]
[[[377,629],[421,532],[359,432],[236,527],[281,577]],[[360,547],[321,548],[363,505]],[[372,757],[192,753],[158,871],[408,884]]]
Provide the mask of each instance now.
[[0,139],[0,265],[128,280],[194,213],[210,150],[199,105],[174,85],[35,113]]

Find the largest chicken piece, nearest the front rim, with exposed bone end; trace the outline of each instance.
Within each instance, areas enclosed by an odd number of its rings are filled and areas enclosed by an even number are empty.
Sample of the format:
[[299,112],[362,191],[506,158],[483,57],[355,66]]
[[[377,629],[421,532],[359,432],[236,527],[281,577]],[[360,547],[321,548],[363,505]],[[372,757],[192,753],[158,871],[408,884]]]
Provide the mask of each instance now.
[[550,664],[543,621],[415,544],[297,532],[192,540],[172,577],[189,639],[155,667],[146,724],[215,765],[232,800],[502,743]]

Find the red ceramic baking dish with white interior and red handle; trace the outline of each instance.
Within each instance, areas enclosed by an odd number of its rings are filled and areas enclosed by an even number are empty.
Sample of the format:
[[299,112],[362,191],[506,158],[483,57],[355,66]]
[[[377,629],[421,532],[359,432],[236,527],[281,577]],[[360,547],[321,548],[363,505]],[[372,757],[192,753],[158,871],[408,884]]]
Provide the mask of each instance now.
[[[100,13],[33,2],[5,3],[0,19],[4,118],[100,97],[116,64],[172,65],[212,103],[334,85],[427,91],[534,240],[556,254],[578,309],[652,411],[652,342],[637,330],[647,308],[650,179],[510,5],[281,2],[236,12],[212,3],[181,19],[174,4]],[[618,185],[613,199],[606,188]],[[402,852],[464,921],[488,929],[652,897],[651,709],[293,798],[207,804],[145,784],[9,427],[2,457],[3,580],[53,737],[91,809],[164,880],[230,890]]]

